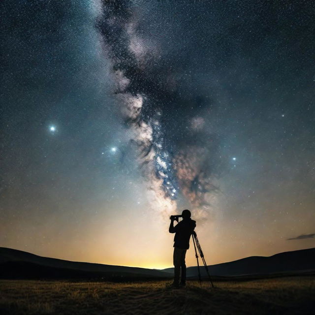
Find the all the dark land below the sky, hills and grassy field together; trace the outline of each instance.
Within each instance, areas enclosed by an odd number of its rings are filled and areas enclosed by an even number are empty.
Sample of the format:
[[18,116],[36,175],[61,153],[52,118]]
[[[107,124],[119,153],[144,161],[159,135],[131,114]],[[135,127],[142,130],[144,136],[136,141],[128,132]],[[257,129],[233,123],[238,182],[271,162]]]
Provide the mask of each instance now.
[[0,248],[0,314],[315,314],[315,248],[197,267],[185,288],[164,270],[47,258]]

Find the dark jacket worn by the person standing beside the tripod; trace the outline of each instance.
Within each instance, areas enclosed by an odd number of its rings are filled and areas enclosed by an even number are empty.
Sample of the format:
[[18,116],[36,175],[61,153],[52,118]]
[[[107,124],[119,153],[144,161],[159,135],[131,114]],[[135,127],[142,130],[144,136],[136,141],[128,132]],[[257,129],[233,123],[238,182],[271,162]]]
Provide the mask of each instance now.
[[170,226],[169,232],[175,233],[174,236],[174,247],[181,249],[189,249],[190,235],[196,227],[196,221],[184,219],[175,226]]

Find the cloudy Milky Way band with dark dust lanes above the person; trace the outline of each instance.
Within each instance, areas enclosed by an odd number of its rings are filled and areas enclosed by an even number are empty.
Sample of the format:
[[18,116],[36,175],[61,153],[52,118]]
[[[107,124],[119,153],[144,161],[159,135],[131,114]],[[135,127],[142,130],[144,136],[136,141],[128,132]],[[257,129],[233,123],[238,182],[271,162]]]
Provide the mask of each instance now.
[[205,133],[205,121],[198,117],[208,102],[198,89],[181,91],[176,56],[161,57],[160,50],[167,48],[141,34],[131,1],[102,1],[97,29],[113,63],[115,93],[141,151],[139,163],[154,200],[161,210],[173,211],[182,193],[193,207],[209,209],[207,194],[218,190],[211,177],[220,163],[219,139]]

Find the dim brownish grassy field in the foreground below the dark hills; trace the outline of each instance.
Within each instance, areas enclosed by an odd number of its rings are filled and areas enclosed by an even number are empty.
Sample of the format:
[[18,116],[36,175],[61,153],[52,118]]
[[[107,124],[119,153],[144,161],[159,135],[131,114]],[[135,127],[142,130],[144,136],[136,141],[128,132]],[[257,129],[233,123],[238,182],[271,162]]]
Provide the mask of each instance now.
[[0,281],[0,314],[315,314],[315,277],[242,282]]

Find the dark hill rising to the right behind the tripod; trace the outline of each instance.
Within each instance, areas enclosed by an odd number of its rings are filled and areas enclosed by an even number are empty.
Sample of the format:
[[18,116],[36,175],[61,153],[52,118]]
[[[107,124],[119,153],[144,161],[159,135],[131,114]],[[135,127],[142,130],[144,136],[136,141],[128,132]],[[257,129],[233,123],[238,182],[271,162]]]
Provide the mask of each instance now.
[[[199,261],[199,263],[201,262]],[[315,271],[315,248],[281,252],[269,257],[252,256],[211,265],[208,266],[208,268],[211,275],[225,277]],[[163,269],[163,271],[173,273],[173,269],[174,268],[167,268]],[[200,267],[200,271],[203,277],[206,276],[206,271],[203,265]],[[197,274],[197,267],[187,268],[188,277],[194,277]]]

